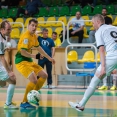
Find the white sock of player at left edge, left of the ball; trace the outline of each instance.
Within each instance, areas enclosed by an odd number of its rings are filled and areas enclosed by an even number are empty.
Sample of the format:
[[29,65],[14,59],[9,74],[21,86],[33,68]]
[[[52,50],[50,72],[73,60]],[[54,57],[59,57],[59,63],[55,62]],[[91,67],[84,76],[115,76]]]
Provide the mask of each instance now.
[[6,98],[6,104],[9,105],[12,102],[13,94],[14,94],[15,85],[9,84],[7,89],[7,98]]

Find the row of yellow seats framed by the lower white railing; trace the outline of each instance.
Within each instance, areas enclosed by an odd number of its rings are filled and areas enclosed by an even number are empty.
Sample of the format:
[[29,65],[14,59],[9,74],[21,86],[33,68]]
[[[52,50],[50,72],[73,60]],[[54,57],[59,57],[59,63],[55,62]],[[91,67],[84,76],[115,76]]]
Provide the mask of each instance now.
[[[100,62],[100,55],[99,52],[96,55],[97,57],[97,62]],[[67,63],[71,64],[72,62],[78,62],[79,64],[84,63],[84,62],[96,62],[95,57],[94,57],[94,52],[93,51],[86,51],[82,57],[82,59],[78,59],[78,53],[75,50],[71,50],[67,54]]]

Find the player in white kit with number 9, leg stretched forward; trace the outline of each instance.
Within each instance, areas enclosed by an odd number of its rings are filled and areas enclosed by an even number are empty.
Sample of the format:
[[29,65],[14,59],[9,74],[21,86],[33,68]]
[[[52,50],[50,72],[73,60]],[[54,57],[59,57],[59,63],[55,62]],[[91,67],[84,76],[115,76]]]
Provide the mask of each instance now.
[[[97,68],[94,77],[92,78],[89,87],[85,91],[82,100],[78,103],[69,102],[69,105],[77,111],[83,111],[89,98],[95,92],[96,86],[107,75],[117,69],[117,28],[111,25],[106,25],[104,17],[100,14],[93,16],[93,26],[96,30],[96,43],[99,48],[101,65]],[[106,56],[105,56],[106,51]]]

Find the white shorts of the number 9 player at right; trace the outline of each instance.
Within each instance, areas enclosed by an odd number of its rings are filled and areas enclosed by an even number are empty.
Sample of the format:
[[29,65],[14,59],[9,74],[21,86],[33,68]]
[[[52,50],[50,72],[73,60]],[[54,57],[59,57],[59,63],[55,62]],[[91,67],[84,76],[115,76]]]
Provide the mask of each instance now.
[[[117,57],[114,59],[106,57],[106,76],[109,76],[114,69],[117,69]],[[97,68],[97,71],[101,71],[101,64]]]

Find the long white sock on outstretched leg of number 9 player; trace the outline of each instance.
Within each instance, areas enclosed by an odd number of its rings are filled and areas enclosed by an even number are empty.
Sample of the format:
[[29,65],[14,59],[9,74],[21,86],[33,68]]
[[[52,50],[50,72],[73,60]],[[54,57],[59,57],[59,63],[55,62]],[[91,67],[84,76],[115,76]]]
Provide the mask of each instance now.
[[95,75],[91,82],[89,87],[87,88],[87,90],[85,91],[85,94],[82,98],[82,100],[79,102],[80,106],[85,106],[85,104],[87,103],[87,101],[89,100],[89,98],[93,95],[96,86],[100,83],[100,79]]

